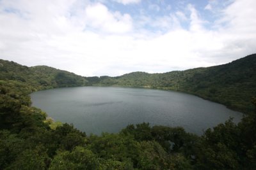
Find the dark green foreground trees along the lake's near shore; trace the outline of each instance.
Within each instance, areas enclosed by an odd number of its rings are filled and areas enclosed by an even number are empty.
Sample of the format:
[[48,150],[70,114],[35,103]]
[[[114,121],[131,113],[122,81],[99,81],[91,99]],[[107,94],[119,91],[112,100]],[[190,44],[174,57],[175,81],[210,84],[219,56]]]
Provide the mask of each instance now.
[[46,113],[30,106],[30,92],[26,83],[0,81],[0,169],[256,168],[256,110],[202,136],[146,123],[86,136],[73,125],[51,128]]

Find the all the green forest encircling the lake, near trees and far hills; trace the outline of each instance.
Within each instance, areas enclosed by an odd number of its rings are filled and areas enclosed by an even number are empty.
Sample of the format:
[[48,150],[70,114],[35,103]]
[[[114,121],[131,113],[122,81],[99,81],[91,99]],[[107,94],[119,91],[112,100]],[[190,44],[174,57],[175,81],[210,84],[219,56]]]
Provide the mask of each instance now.
[[[47,66],[0,60],[0,169],[256,169],[255,57],[221,66],[115,78],[84,78]],[[182,127],[147,123],[127,125],[117,134],[88,136],[31,107],[33,91],[83,85],[179,90],[227,101],[247,114],[239,124],[230,118],[202,136]]]

